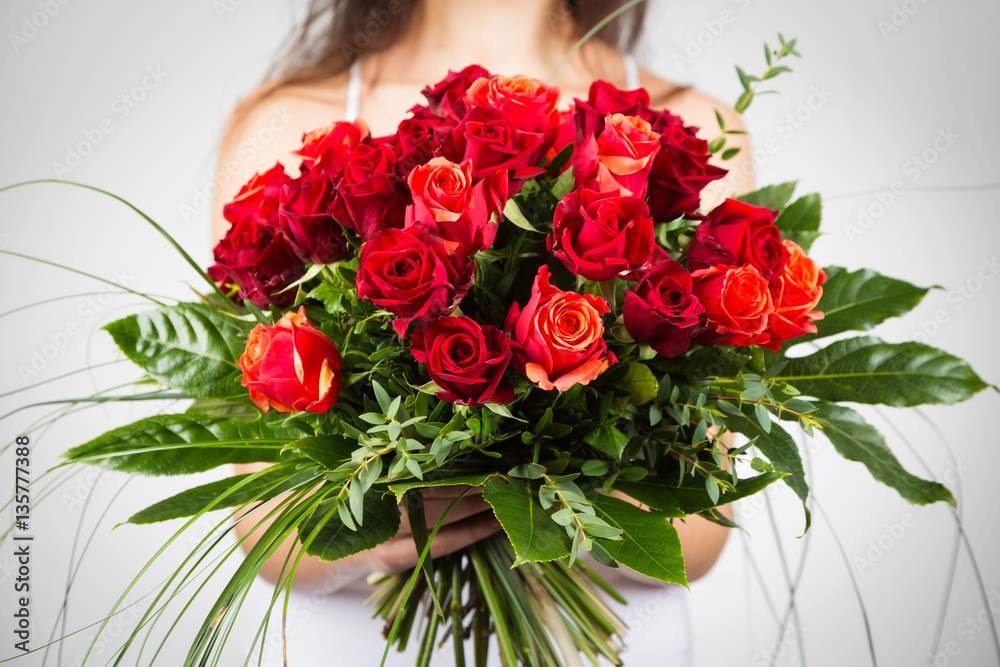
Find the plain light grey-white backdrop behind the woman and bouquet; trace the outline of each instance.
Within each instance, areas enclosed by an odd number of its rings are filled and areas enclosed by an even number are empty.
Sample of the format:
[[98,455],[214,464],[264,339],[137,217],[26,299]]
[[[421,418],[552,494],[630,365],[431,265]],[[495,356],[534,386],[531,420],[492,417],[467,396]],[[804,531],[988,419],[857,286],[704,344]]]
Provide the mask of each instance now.
[[[207,266],[223,123],[259,85],[303,11],[301,0],[3,0],[0,186],[58,177],[107,189],[157,220]],[[824,196],[825,235],[811,253],[821,265],[870,267],[940,286],[878,335],[948,350],[996,383],[1000,189],[969,186],[1000,181],[998,24],[1000,5],[986,0],[652,0],[637,57],[663,78],[732,104],[740,92],[733,64],[762,70],[762,42],[773,45],[777,31],[798,38],[803,58],[791,63],[795,72],[777,79],[780,94],[755,100],[744,119],[757,182],[799,179],[800,193]],[[13,412],[22,406],[90,396],[135,377],[100,331],[143,304],[123,288],[186,299],[187,285],[197,285],[135,213],[76,188],[0,193],[0,249],[108,281],[0,256],[5,445],[62,409]],[[799,537],[801,506],[781,485],[738,507],[745,532],[731,535],[714,570],[691,587],[696,664],[872,664],[869,630],[881,665],[1000,664],[992,629],[1000,612],[1000,491],[991,481],[1000,469],[991,420],[998,408],[1000,397],[984,392],[922,414],[865,411],[909,470],[955,492],[964,543],[948,507],[911,507],[827,443],[803,440],[817,503],[813,528]],[[82,663],[98,630],[86,626],[107,613],[180,523],[112,528],[194,482],[126,484],[96,469],[42,473],[68,447],[172,409],[165,402],[101,404],[35,432],[33,642],[48,637],[70,577],[68,621],[57,636],[84,628],[47,664]],[[0,457],[5,501],[13,469],[7,452]],[[169,576],[211,525],[182,535],[129,601]],[[6,626],[14,604],[13,550],[8,540],[0,551],[7,619],[0,659],[14,654]],[[90,656],[94,664],[112,656],[148,600],[104,628]],[[201,622],[194,612],[155,664],[180,664],[180,639]],[[636,633],[656,632],[657,613],[657,605],[647,604],[626,620]],[[15,664],[42,663],[35,654]]]

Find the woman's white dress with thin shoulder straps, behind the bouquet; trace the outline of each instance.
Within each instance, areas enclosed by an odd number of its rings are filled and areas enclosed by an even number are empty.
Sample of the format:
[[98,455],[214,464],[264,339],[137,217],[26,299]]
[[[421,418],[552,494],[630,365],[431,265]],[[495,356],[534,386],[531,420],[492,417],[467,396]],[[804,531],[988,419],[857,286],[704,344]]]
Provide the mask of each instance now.
[[[628,89],[639,87],[639,68],[630,55],[624,56]],[[351,67],[347,87],[346,118],[354,120],[361,103],[361,60]],[[626,650],[622,659],[627,667],[691,667],[693,662],[692,630],[688,596],[684,588],[673,585],[648,585],[637,582],[609,568],[595,564],[601,576],[625,599],[627,605],[609,601],[612,609],[629,626],[625,637]],[[371,608],[365,600],[371,594],[371,587],[365,578],[358,575],[342,586],[331,582],[324,590],[318,587],[312,592],[293,591],[289,599],[286,642],[289,667],[314,667],[336,665],[336,667],[376,667],[382,660],[385,641],[382,639],[382,621],[373,619]],[[336,590],[334,590],[336,589]],[[244,605],[242,614],[247,618],[244,624],[244,650],[246,656],[261,619],[264,616],[274,587],[258,579],[254,583],[251,599]],[[281,609],[284,596],[279,597],[271,613],[271,622],[264,642],[261,667],[280,667]],[[252,622],[250,622],[252,621]],[[419,648],[419,636],[414,630],[410,645],[405,653],[395,649],[389,652],[386,665],[412,667]],[[499,667],[500,659],[496,651],[495,638],[491,638],[490,666]],[[260,643],[254,651],[251,665],[256,665]],[[466,656],[471,660],[471,642],[467,644]],[[242,659],[240,663],[242,664]],[[454,665],[450,642],[435,651],[431,659],[434,667]]]

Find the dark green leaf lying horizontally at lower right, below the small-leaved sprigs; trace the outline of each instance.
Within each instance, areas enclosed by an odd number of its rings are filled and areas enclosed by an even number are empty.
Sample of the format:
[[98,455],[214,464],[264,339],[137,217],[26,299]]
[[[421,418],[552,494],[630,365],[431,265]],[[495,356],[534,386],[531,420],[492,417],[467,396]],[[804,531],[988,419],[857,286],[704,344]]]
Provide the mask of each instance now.
[[[704,487],[677,487],[676,479],[669,480],[662,477],[647,477],[640,482],[617,480],[614,487],[616,491],[621,491],[630,498],[634,498],[644,505],[649,505],[653,509],[661,510],[668,516],[683,517],[687,514],[695,514],[711,509],[718,504],[726,505],[741,498],[752,496],[770,484],[782,479],[786,474],[768,472],[741,479],[736,483],[735,490],[728,491],[719,496],[720,503],[713,502],[708,494],[708,490]],[[720,479],[724,479],[732,484],[733,479],[729,473],[716,473],[716,475]]]

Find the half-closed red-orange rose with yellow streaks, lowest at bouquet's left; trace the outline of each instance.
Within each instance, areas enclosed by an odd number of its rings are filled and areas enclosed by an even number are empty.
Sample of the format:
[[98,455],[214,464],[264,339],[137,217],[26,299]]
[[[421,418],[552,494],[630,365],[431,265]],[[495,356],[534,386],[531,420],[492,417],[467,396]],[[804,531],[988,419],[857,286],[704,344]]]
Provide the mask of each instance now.
[[340,352],[309,324],[304,308],[273,327],[254,327],[237,364],[250,400],[264,412],[326,412],[340,393]]

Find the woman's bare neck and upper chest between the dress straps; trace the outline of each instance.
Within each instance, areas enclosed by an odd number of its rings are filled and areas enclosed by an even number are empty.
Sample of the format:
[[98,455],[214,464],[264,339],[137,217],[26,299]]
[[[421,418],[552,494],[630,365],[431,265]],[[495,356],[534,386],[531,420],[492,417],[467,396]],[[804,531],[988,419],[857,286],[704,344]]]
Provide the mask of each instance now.
[[[379,78],[421,85],[475,63],[496,73],[545,79],[576,41],[563,7],[561,0],[420,0],[407,34],[379,57]],[[597,50],[613,53],[589,43],[552,82],[574,87],[595,75],[617,78],[620,63],[594,57]],[[598,68],[608,71],[595,72]]]

